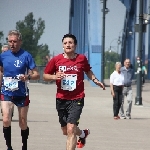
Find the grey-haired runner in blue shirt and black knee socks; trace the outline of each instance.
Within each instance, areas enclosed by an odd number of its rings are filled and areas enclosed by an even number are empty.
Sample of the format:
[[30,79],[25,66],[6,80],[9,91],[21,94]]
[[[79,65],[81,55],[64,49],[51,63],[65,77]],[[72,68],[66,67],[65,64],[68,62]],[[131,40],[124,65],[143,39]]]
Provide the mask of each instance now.
[[[27,126],[27,112],[29,107],[29,93],[27,80],[39,79],[39,73],[30,53],[21,49],[22,37],[17,30],[8,33],[10,50],[0,55],[0,79],[3,81],[1,93],[1,107],[3,112],[3,133],[7,150],[11,145],[11,113],[13,103],[18,107],[19,126],[22,136],[22,150],[27,150],[29,128]],[[27,74],[28,70],[32,74]]]

